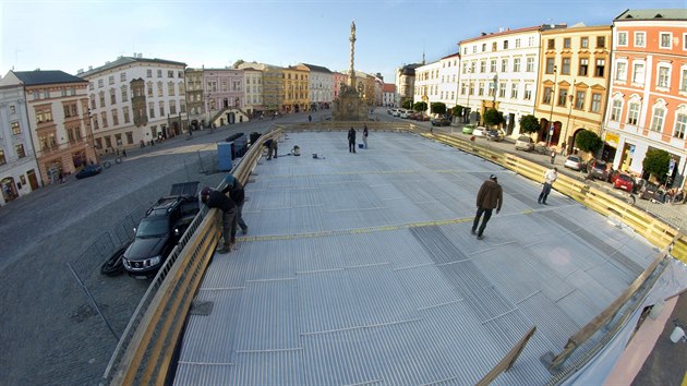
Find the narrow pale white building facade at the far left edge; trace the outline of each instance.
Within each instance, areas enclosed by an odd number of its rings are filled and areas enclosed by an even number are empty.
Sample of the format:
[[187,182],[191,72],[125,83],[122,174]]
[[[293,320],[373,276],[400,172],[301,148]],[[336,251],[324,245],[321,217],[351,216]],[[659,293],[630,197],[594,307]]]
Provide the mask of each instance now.
[[0,205],[40,188],[38,170],[24,88],[0,86]]

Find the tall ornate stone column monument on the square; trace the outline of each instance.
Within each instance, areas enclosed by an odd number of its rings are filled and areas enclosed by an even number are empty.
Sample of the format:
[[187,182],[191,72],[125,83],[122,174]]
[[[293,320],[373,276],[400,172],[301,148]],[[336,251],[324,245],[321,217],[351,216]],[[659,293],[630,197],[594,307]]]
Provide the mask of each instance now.
[[365,105],[360,93],[363,87],[357,84],[355,70],[353,69],[355,57],[355,22],[351,22],[351,35],[348,38],[351,43],[351,56],[349,68],[348,85],[341,84],[339,98],[334,101],[332,118],[335,121],[365,121],[367,120],[367,105]]

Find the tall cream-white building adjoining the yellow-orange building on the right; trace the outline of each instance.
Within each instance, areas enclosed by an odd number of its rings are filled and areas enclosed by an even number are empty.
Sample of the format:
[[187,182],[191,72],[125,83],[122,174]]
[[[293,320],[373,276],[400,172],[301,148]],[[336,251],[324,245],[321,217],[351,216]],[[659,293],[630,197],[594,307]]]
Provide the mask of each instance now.
[[540,40],[540,27],[535,26],[459,43],[458,105],[469,108],[471,123],[482,122],[484,111],[496,108],[504,116],[506,135],[519,135],[520,119],[534,112]]

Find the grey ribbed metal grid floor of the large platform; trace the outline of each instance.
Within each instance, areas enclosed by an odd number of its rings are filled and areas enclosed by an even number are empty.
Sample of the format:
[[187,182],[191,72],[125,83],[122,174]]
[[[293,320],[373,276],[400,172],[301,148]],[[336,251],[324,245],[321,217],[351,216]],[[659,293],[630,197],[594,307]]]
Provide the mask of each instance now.
[[[262,160],[250,233],[216,255],[177,385],[474,384],[531,327],[497,384],[545,383],[540,361],[607,306],[655,251],[540,184],[413,134],[288,133]],[[316,153],[315,159],[311,154]],[[504,207],[470,234],[491,174]],[[576,354],[574,354],[574,358]]]

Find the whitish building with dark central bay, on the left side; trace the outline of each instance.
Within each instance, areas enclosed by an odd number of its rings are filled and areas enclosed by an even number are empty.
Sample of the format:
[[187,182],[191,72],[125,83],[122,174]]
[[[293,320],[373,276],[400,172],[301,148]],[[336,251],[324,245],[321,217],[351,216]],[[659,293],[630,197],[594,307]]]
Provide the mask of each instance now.
[[185,67],[137,55],[77,73],[89,82],[88,105],[98,153],[188,132]]

